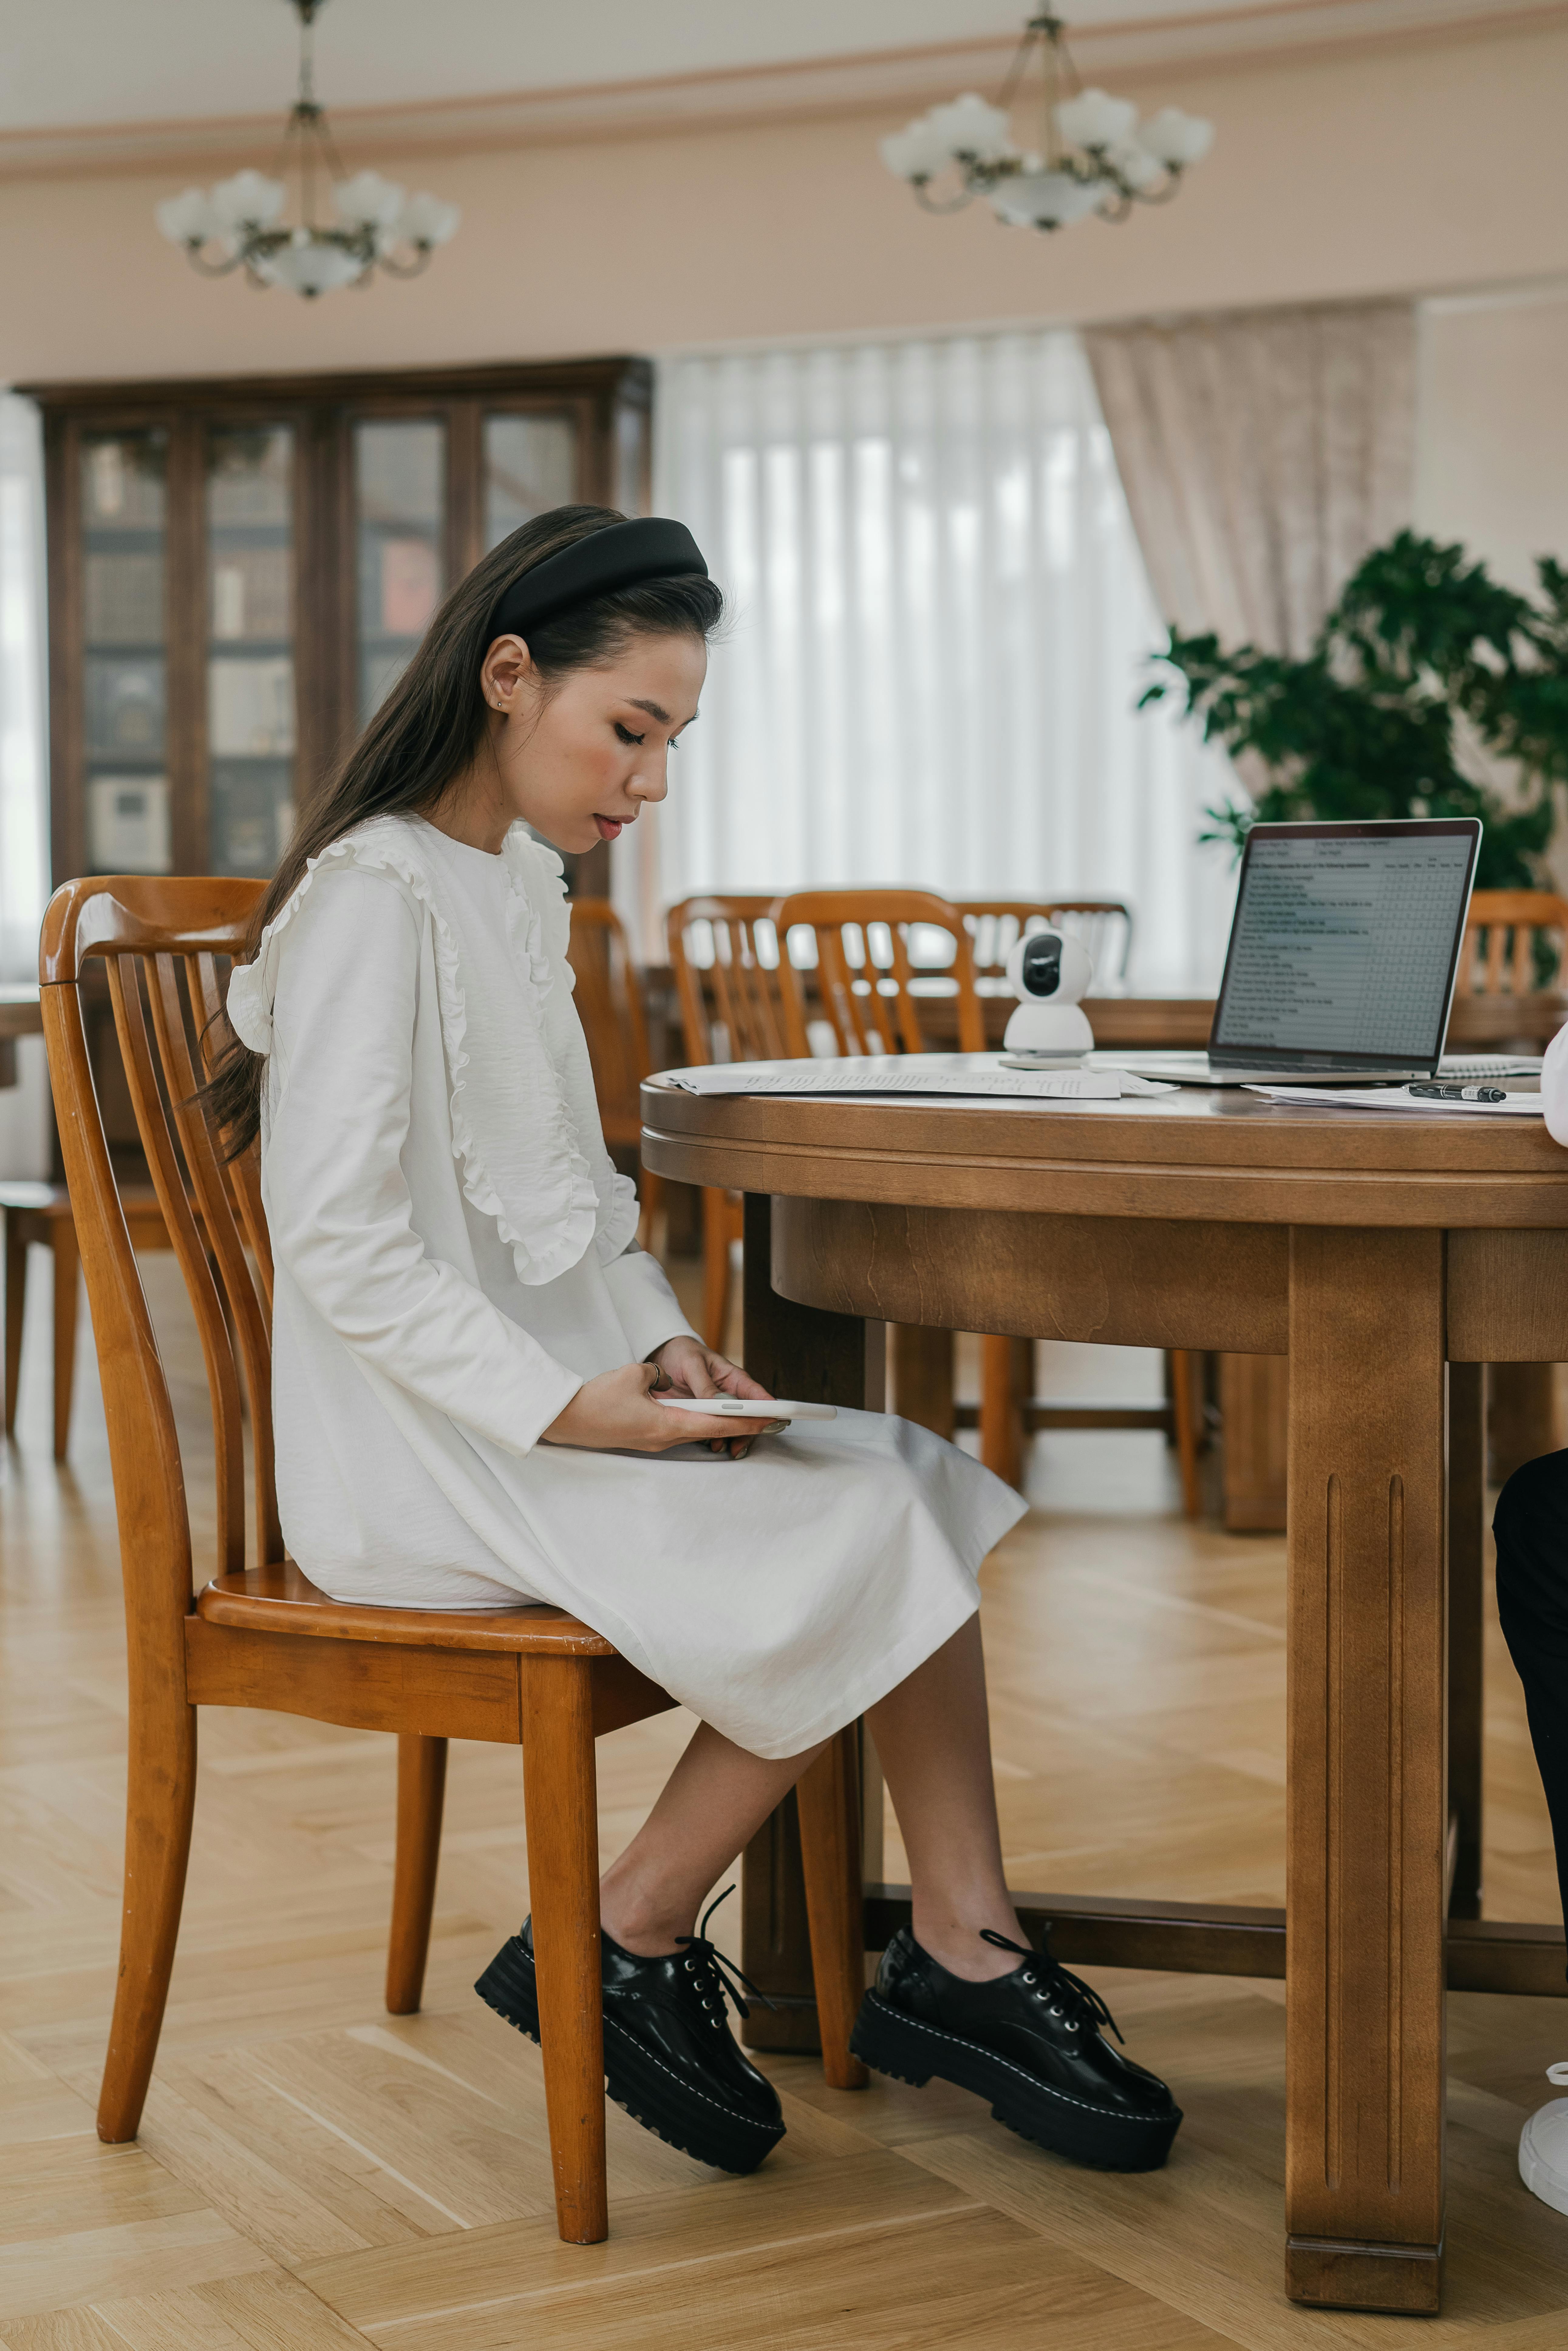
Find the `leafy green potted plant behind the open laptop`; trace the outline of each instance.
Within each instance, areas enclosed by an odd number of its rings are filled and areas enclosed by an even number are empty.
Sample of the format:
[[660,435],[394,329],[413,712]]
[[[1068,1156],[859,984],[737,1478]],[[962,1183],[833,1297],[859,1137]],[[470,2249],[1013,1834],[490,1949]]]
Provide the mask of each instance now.
[[[1143,703],[1185,696],[1204,738],[1267,769],[1251,806],[1208,809],[1237,846],[1255,820],[1479,816],[1479,889],[1535,889],[1568,781],[1568,571],[1537,562],[1519,595],[1462,548],[1401,531],[1375,548],[1305,661],[1225,651],[1171,630],[1175,677]],[[1507,795],[1483,781],[1512,762]]]

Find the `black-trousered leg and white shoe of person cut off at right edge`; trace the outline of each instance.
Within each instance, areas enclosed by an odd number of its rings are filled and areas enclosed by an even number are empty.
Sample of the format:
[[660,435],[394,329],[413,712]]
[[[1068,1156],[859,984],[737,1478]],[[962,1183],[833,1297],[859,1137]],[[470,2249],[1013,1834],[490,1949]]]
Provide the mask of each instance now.
[[[1544,1453],[1514,1472],[1497,1495],[1493,1533],[1497,1615],[1523,1683],[1568,1918],[1568,1453]],[[1556,2067],[1552,2078],[1559,2078]],[[1519,2170],[1542,2203],[1568,2212],[1568,2097],[1530,2116],[1519,2139]]]

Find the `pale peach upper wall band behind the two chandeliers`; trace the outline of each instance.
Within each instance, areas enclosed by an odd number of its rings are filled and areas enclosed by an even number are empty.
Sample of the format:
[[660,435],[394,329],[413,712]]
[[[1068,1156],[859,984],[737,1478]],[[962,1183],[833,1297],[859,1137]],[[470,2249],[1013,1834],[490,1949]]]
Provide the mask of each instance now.
[[12,179],[0,381],[1044,324],[1568,270],[1566,87],[1568,26],[1164,71],[1131,94],[1213,115],[1213,155],[1168,209],[1060,237],[983,205],[922,214],[877,160],[884,115],[388,153],[463,205],[463,230],[428,277],[320,306],[197,280],[162,245],[150,207],[186,169]]

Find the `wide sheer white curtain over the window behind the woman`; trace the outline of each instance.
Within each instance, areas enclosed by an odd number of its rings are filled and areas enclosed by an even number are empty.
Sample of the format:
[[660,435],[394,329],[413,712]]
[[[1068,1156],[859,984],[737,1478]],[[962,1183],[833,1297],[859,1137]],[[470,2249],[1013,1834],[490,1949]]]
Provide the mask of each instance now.
[[[656,510],[733,623],[618,889],[1093,891],[1135,985],[1215,976],[1229,764],[1138,712],[1161,623],[1074,334],[719,353],[658,371]],[[642,825],[637,832],[642,835]]]

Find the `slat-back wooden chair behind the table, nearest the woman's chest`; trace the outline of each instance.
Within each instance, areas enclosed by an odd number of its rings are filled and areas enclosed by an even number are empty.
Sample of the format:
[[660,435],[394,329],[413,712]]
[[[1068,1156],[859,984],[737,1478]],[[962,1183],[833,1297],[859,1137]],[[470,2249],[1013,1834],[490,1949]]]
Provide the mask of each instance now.
[[[785,1060],[783,980],[771,898],[682,898],[665,915],[670,971],[686,1037],[686,1063]],[[703,1190],[703,1340],[724,1347],[729,1331],[731,1244],[741,1239],[743,1201],[717,1185]]]

